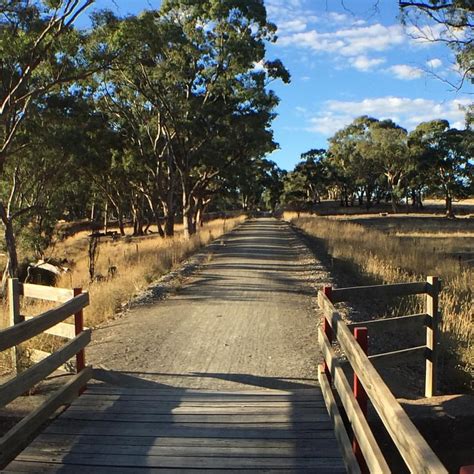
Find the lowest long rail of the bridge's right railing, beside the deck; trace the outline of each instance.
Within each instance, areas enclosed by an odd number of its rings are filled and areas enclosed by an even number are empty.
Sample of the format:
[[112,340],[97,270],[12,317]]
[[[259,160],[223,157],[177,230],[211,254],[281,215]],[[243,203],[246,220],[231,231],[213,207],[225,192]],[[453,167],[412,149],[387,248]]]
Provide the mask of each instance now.
[[339,447],[342,452],[342,459],[344,461],[344,465],[346,466],[347,472],[358,474],[361,471],[359,465],[357,464],[357,460],[354,457],[354,453],[352,452],[351,441],[349,439],[349,436],[347,435],[346,428],[344,427],[344,421],[341,418],[339,409],[337,408],[336,400],[334,399],[331,385],[329,384],[328,378],[325,374],[324,367],[319,368],[318,380],[319,384],[321,385],[324,400],[326,401],[326,407],[329,416],[331,417],[331,420],[334,424],[334,433],[336,435],[336,439],[339,442]]

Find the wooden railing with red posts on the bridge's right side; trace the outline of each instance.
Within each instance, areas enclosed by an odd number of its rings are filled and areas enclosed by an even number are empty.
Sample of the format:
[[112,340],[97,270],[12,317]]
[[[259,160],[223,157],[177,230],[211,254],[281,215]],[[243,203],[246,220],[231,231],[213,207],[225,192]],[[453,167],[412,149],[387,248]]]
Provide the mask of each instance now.
[[[350,300],[353,297],[386,298],[413,294],[426,294],[426,313],[357,323],[350,325],[351,327],[344,322],[334,306],[336,302]],[[318,334],[324,356],[324,366],[321,366],[319,370],[319,382],[349,472],[368,471],[377,474],[391,472],[367,422],[367,401],[370,401],[411,472],[417,474],[447,473],[445,467],[420,435],[373,365],[377,358],[378,360],[393,361],[423,350],[426,356],[425,393],[427,396],[434,393],[436,386],[436,331],[439,318],[438,294],[439,282],[434,277],[429,277],[427,282],[421,283],[341,289],[327,287],[319,292],[318,303],[324,315],[323,325]],[[404,322],[426,325],[426,346],[409,348],[403,354],[396,351],[396,353],[378,354],[375,358],[367,356],[367,328],[370,328],[371,325],[384,324],[386,327],[397,327]],[[356,334],[353,334],[351,329]],[[341,357],[336,355],[332,345],[333,341],[337,341],[354,371],[353,387],[349,384],[344,373]],[[339,395],[350,423],[353,433],[352,442],[335,402],[333,387]]]

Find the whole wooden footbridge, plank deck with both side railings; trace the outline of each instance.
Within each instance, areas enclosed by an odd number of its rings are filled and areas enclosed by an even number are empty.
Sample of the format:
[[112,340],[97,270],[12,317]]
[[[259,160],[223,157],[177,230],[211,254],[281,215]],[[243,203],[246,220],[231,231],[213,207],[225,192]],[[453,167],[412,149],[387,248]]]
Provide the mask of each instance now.
[[[169,389],[154,382],[130,388],[94,380],[84,358],[90,331],[83,330],[82,309],[88,295],[11,280],[13,325],[0,331],[0,351],[11,350],[15,358],[15,347],[22,342],[43,331],[69,334],[72,326],[68,328],[64,320],[73,315],[75,325],[74,337],[64,347],[0,386],[1,406],[72,357],[77,374],[0,439],[2,472],[391,472],[366,420],[369,400],[411,472],[446,473],[372,365],[374,359],[393,360],[423,351],[426,394],[432,394],[438,291],[433,278],[420,283],[326,288],[319,293],[324,314],[319,340],[325,359],[319,368],[320,386],[224,392]],[[371,358],[364,351],[364,329],[348,327],[334,306],[354,295],[408,294],[426,294],[426,313],[371,321],[366,326],[424,325],[426,346]],[[19,312],[20,295],[60,305],[25,320]],[[351,329],[357,329],[355,336]],[[336,342],[354,372],[353,388],[341,356],[336,356]],[[58,409],[63,410],[59,416]]]

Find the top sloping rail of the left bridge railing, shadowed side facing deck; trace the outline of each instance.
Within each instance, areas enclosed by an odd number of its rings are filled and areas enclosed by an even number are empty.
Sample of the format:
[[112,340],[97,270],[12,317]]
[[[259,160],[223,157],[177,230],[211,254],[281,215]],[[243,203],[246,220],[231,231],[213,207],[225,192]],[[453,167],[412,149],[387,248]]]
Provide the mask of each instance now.
[[31,339],[55,326],[89,304],[89,294],[83,293],[58,308],[44,312],[41,316],[24,321],[0,331],[0,351]]

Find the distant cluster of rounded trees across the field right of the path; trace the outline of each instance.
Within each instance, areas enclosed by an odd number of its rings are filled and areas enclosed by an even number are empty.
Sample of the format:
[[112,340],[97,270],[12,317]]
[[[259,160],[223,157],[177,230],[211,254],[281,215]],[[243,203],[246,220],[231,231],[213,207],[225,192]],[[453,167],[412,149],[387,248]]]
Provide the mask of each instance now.
[[446,120],[420,123],[412,132],[392,120],[362,116],[329,139],[327,150],[310,150],[284,181],[282,203],[310,209],[322,198],[370,208],[401,200],[423,207],[426,194],[453,201],[473,195],[474,131]]

